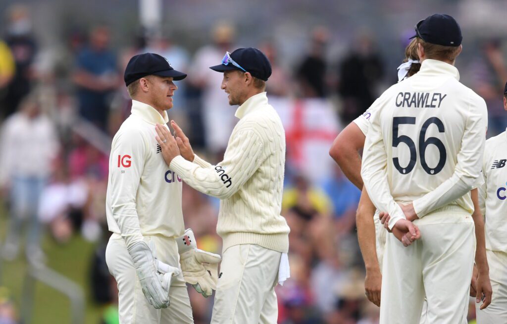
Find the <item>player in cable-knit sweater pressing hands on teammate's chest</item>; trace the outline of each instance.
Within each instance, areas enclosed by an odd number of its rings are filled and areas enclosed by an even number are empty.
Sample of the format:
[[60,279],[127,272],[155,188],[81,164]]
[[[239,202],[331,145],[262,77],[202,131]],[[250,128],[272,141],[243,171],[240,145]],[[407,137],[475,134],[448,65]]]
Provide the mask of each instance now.
[[224,74],[229,104],[239,104],[224,160],[203,161],[172,121],[177,137],[158,125],[157,141],[171,170],[221,199],[216,232],[223,239],[223,262],[211,323],[276,323],[274,287],[289,276],[289,228],[280,215],[285,133],[265,92],[271,64],[258,49],[241,48],[210,68]]

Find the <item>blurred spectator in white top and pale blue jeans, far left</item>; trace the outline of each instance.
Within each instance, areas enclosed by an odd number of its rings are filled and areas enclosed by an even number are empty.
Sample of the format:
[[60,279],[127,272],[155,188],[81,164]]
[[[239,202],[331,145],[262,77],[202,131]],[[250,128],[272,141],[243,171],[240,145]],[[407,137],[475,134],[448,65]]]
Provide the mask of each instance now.
[[21,225],[27,221],[26,255],[30,262],[40,263],[45,258],[40,247],[38,208],[59,143],[55,126],[41,114],[37,95],[32,93],[21,102],[20,111],[6,120],[0,139],[0,188],[9,191],[11,203],[10,228],[2,253],[8,260],[17,256]]

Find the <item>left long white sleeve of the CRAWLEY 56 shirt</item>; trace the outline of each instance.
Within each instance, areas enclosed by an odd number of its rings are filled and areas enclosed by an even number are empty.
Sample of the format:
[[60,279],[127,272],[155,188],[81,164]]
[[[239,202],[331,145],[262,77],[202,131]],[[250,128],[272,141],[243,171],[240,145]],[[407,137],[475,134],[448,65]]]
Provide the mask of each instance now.
[[387,154],[380,129],[381,113],[373,114],[370,118],[370,128],[366,136],[363,153],[361,177],[366,190],[374,205],[380,211],[388,212],[391,219],[389,228],[401,219],[406,219],[402,208],[394,201],[387,181]]

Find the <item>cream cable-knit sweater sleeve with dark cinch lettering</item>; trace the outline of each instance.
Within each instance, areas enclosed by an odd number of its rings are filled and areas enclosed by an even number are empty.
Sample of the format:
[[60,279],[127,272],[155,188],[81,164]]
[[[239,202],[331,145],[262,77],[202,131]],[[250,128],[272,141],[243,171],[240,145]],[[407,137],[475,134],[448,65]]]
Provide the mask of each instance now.
[[197,191],[220,199],[231,197],[258,169],[264,153],[263,142],[255,130],[247,128],[233,136],[224,160],[216,166],[192,163],[177,156],[170,169]]

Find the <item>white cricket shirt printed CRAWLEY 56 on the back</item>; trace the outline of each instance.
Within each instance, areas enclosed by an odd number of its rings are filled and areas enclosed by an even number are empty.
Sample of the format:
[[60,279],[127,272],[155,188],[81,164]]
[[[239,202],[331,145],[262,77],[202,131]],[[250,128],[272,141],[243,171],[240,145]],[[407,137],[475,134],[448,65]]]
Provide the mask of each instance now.
[[361,176],[377,209],[419,218],[451,205],[472,213],[469,191],[480,175],[487,127],[486,103],[459,83],[458,70],[426,59],[420,71],[387,89],[372,105]]

